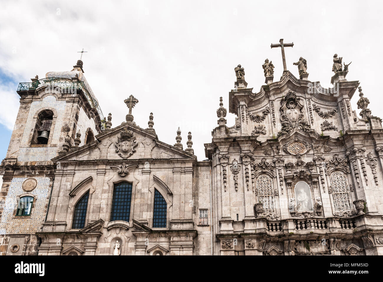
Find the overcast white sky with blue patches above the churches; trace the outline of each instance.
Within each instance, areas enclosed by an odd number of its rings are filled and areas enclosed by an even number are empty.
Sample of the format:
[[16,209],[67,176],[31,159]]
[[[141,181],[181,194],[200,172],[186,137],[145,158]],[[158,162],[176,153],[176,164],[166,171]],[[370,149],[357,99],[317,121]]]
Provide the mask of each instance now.
[[[373,115],[383,118],[381,2],[373,1],[2,1],[0,10],[0,150],[5,157],[19,107],[19,82],[49,71],[70,71],[82,48],[85,77],[113,127],[125,120],[124,99],[139,103],[134,121],[147,128],[150,112],[163,142],[176,130],[193,135],[198,160],[217,126],[216,109],[234,86],[234,67],[245,68],[249,88],[264,84],[262,64],[283,71],[284,38],[288,69],[307,60],[309,80],[330,85],[332,56],[343,57],[349,81],[359,80]],[[357,109],[358,93],[352,99]],[[359,113],[359,110],[357,110]],[[228,113],[228,126],[234,125]]]

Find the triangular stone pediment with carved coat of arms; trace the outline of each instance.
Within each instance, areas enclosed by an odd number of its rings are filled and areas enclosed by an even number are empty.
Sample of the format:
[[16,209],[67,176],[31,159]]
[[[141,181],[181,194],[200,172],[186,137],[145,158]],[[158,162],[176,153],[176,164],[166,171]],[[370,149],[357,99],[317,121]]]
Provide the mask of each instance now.
[[[60,161],[190,159],[196,156],[158,140],[156,134],[136,125],[123,123],[95,136],[96,140],[54,158]],[[81,144],[80,144],[81,145]]]

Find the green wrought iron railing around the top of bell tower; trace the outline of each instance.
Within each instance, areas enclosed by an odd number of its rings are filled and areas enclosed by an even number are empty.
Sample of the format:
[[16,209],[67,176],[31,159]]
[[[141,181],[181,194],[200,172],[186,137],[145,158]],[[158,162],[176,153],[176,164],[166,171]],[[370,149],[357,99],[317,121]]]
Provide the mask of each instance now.
[[83,81],[68,81],[64,78],[43,78],[34,82],[19,83],[17,91],[36,91],[36,89],[43,86],[52,87],[49,90],[61,91],[63,93],[72,93],[73,91],[82,90],[90,106],[97,110],[101,120],[104,119],[104,115],[102,114],[100,105],[98,104],[96,99],[94,99],[92,95],[90,95]]

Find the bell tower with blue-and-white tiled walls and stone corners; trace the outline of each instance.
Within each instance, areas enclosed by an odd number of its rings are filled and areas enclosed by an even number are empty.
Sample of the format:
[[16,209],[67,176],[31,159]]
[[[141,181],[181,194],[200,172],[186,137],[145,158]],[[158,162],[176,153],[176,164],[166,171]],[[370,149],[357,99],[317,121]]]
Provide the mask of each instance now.
[[20,108],[0,166],[0,255],[37,254],[34,234],[45,221],[55,178],[51,159],[65,136],[78,147],[101,132],[104,117],[83,73],[79,60],[72,71],[36,75],[18,86]]

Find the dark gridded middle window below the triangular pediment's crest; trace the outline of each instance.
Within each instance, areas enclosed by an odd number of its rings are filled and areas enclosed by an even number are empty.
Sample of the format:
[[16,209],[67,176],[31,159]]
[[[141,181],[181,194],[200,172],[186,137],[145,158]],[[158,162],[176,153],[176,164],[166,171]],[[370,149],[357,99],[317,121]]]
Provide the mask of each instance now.
[[116,183],[113,190],[112,210],[110,221],[129,221],[132,200],[132,184],[128,182]]

